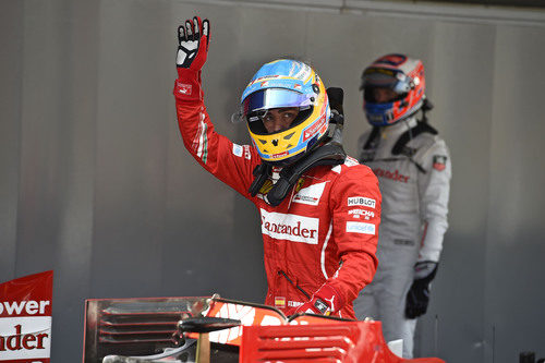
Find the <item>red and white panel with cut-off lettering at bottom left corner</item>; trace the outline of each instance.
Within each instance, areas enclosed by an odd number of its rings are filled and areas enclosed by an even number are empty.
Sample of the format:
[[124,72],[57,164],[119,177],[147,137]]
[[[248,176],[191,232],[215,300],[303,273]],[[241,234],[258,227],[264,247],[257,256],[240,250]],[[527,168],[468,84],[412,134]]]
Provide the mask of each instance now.
[[0,362],[50,363],[53,271],[0,285]]

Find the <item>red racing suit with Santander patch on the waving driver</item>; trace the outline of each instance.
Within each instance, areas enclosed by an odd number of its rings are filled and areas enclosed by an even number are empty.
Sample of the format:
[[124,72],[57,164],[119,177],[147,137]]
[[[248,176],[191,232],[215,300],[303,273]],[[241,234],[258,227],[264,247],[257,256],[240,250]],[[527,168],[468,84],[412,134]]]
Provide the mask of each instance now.
[[[201,86],[199,80],[192,81],[193,86]],[[268,283],[265,303],[291,315],[327,286],[335,291],[334,315],[355,318],[352,301],[371,282],[378,264],[380,192],[375,174],[351,157],[336,167],[318,166],[272,207],[262,192],[270,189],[278,173],[253,197],[249,187],[254,168],[262,162],[257,150],[216,133],[203,93],[197,98],[185,97],[181,86],[177,82],[174,95],[185,147],[203,168],[249,198],[261,214]]]

